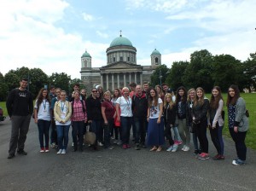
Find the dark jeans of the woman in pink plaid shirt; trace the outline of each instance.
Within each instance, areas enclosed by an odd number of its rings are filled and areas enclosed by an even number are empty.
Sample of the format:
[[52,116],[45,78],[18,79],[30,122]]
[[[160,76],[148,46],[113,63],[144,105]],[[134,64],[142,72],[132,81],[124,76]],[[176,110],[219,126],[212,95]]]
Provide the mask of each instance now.
[[72,122],[72,136],[73,136],[73,147],[78,148],[78,136],[79,136],[79,148],[83,148],[84,142],[84,120]]

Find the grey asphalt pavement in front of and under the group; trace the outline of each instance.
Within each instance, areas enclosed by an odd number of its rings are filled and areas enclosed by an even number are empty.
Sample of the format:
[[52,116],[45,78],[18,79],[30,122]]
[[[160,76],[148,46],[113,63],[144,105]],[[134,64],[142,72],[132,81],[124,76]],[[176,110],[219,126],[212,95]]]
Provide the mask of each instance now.
[[[256,152],[247,165],[231,165],[234,144],[225,139],[222,161],[199,160],[189,152],[152,153],[148,149],[101,149],[67,154],[39,153],[38,129],[32,122],[27,156],[7,159],[10,121],[0,124],[0,190],[256,190]],[[71,139],[70,139],[71,140]],[[215,150],[210,142],[210,152]]]

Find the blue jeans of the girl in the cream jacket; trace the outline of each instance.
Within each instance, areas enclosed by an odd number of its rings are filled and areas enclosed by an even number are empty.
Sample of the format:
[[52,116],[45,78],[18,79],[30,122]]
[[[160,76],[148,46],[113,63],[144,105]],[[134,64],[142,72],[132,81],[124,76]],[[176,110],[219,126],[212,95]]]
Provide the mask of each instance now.
[[56,125],[59,144],[58,146],[60,149],[67,149],[69,127],[70,125]]

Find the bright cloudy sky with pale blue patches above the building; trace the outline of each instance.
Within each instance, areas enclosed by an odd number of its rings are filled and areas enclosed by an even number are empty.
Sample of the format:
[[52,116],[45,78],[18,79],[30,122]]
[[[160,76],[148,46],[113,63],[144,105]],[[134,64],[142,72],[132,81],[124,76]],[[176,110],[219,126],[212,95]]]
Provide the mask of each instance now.
[[92,67],[107,64],[106,49],[122,35],[137,48],[137,64],[189,61],[195,50],[246,61],[256,52],[255,0],[0,0],[0,65],[38,67],[80,78],[85,49]]

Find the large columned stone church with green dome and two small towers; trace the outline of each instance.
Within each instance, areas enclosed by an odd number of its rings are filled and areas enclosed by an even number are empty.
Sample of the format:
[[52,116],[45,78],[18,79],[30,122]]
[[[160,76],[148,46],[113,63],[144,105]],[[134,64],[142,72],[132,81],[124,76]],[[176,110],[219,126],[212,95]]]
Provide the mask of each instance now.
[[128,87],[131,82],[150,82],[155,67],[161,65],[161,55],[157,49],[150,55],[151,65],[137,65],[137,49],[121,34],[113,39],[106,53],[107,65],[104,67],[91,67],[91,56],[87,51],[81,56],[81,79],[88,90],[97,84],[102,85],[103,90],[113,90]]

